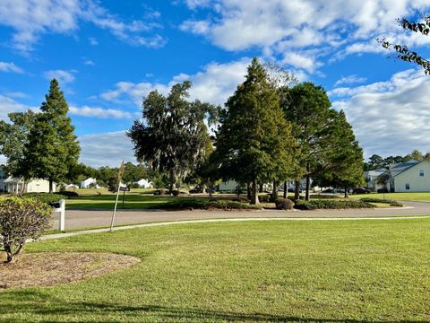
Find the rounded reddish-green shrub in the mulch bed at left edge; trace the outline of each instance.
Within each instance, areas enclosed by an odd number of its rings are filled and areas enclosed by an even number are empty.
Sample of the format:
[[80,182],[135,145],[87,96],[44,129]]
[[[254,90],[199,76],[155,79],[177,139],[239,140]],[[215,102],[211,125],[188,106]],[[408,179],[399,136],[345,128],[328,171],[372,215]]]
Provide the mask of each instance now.
[[0,236],[6,263],[12,263],[22,253],[26,240],[37,240],[47,231],[51,214],[52,208],[37,199],[0,199]]

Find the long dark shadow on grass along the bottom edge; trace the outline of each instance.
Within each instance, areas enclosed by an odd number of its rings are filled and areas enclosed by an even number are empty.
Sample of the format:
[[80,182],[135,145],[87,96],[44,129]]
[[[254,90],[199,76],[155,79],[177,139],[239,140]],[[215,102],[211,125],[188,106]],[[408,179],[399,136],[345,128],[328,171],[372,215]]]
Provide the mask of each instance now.
[[[347,323],[418,323],[427,320],[359,320],[359,319],[323,319],[294,316],[272,315],[269,313],[237,313],[232,311],[199,310],[176,308],[159,305],[127,306],[113,303],[62,302],[47,292],[29,290],[0,292],[0,315],[12,316],[8,321],[22,321],[36,315],[44,322],[67,321],[120,322],[124,319],[157,319],[162,321],[252,321],[252,322],[347,322]],[[13,320],[13,314],[20,314],[21,319]],[[42,318],[40,318],[40,316]],[[51,320],[50,320],[51,319]]]

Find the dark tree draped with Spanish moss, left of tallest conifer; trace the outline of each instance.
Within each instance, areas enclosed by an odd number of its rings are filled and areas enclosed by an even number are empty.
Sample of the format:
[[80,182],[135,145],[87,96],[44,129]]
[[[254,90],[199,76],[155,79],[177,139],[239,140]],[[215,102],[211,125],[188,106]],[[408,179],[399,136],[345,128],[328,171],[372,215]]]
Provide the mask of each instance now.
[[189,81],[176,84],[167,97],[150,92],[142,104],[144,121],[135,120],[127,134],[140,162],[160,173],[168,172],[170,193],[178,179],[204,162],[211,141],[204,120],[217,109],[209,103],[187,100],[191,86]]

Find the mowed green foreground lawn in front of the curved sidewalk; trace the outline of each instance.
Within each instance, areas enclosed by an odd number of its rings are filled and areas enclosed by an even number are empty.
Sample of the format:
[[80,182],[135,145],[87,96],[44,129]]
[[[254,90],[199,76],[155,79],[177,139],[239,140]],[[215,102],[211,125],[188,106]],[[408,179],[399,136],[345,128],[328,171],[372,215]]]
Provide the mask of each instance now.
[[137,266],[0,292],[12,322],[424,322],[430,219],[176,224],[31,243]]

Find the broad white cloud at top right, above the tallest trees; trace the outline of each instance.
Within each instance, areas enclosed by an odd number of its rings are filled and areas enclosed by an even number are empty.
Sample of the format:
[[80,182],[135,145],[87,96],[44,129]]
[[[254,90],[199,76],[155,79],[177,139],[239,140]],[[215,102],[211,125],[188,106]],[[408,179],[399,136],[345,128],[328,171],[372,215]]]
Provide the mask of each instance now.
[[263,55],[311,73],[317,71],[315,62],[321,57],[386,52],[377,37],[430,44],[430,38],[409,34],[396,22],[428,11],[428,0],[213,0],[211,5],[186,0],[185,4],[192,10],[202,8],[207,16],[186,20],[182,31],[203,35],[231,51],[260,48]]

